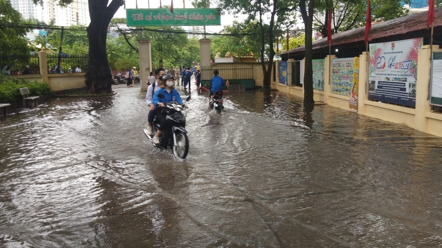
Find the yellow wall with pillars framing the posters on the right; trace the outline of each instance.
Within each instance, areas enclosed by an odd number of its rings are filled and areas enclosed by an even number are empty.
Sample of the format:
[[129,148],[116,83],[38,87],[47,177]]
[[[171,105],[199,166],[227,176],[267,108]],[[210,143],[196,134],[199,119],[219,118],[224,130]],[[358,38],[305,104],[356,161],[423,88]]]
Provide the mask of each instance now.
[[[433,52],[440,52],[439,46],[433,46]],[[353,111],[349,106],[350,97],[331,93],[330,72],[331,59],[334,55],[325,58],[325,85],[324,92],[314,90],[313,99],[327,103],[330,106],[339,107]],[[430,72],[430,46],[423,46],[418,51],[417,83],[416,83],[416,107],[399,106],[385,102],[368,100],[368,64],[367,54],[364,52],[359,56],[359,92],[358,92],[358,114],[370,116],[384,121],[404,124],[419,131],[434,134],[442,137],[442,113],[431,112],[428,101],[429,94],[429,72]],[[305,63],[304,63],[305,64]],[[277,73],[277,72],[276,72]],[[289,73],[290,75],[290,73]],[[272,82],[272,88],[278,91],[304,97],[304,89],[295,86],[287,86]]]

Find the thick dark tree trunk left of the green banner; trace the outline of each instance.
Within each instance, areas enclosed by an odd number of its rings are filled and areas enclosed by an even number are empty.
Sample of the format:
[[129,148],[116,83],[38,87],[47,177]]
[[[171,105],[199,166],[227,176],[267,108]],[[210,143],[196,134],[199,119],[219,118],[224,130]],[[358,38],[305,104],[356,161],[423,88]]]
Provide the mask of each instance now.
[[91,94],[112,93],[112,75],[106,51],[107,29],[112,17],[123,0],[89,0],[91,23],[87,28],[89,39],[89,60],[86,71],[86,86]]

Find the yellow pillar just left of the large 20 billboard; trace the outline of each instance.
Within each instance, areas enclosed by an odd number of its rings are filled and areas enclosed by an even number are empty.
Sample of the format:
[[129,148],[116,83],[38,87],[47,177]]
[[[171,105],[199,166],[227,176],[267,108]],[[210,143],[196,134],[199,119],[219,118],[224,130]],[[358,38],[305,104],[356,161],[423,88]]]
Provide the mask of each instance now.
[[357,112],[365,115],[365,103],[368,101],[368,61],[367,52],[359,55],[359,89],[357,93]]

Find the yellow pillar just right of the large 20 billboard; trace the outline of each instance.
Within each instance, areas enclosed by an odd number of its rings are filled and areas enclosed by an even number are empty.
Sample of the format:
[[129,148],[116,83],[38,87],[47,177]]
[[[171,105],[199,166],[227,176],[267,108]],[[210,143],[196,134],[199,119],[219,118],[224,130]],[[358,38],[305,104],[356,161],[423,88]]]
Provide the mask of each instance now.
[[[430,102],[428,100],[429,83],[430,83],[430,51],[429,45],[422,46],[417,51],[417,82],[416,82],[416,116],[414,118],[414,126],[417,130],[428,132],[428,120],[426,112],[431,111]],[[439,46],[433,46],[433,50],[438,49]]]

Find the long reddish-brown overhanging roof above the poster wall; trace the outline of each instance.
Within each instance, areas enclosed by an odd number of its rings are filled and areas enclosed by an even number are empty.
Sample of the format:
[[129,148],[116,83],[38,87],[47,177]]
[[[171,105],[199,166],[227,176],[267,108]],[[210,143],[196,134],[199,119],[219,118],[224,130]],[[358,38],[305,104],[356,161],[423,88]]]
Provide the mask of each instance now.
[[[407,15],[393,20],[379,22],[371,26],[369,32],[369,42],[378,43],[401,39],[411,39],[430,36],[427,30],[428,12]],[[442,34],[442,8],[434,10],[434,35]],[[431,29],[431,28],[430,28]],[[365,46],[364,43],[365,26],[332,35],[332,47],[344,46],[354,48]],[[313,53],[329,51],[329,43],[326,38],[313,42]],[[305,54],[305,46],[292,49],[280,54],[281,57],[290,55],[296,56]]]

